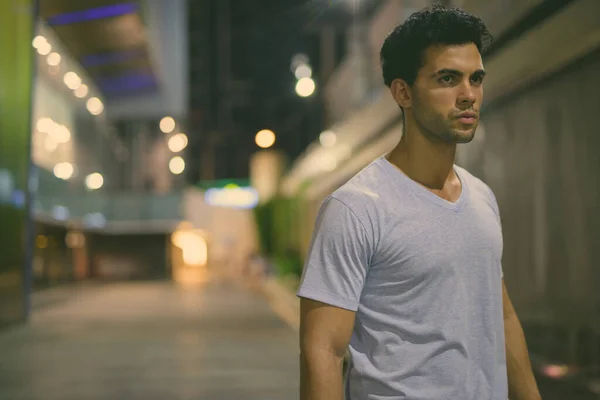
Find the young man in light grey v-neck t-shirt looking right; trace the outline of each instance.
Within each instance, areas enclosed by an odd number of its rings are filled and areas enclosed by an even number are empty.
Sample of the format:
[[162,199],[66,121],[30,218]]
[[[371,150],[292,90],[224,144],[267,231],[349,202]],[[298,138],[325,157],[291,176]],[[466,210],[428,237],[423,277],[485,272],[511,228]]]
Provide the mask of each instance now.
[[404,134],[321,206],[298,290],[302,400],[540,399],[496,200],[454,165],[475,134],[490,42],[480,19],[441,6],[385,40]]

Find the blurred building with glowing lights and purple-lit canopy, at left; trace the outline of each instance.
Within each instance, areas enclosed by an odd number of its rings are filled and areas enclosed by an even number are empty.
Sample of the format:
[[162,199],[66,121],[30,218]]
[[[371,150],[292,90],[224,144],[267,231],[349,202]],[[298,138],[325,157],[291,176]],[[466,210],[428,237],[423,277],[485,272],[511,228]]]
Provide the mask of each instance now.
[[28,314],[32,288],[169,274],[188,49],[185,0],[21,1],[0,14],[1,325]]

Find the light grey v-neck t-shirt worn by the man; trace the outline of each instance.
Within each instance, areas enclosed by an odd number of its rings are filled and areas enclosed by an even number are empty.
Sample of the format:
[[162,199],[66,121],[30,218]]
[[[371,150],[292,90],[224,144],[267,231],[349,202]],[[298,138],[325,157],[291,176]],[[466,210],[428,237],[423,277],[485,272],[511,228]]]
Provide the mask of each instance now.
[[347,400],[506,400],[502,229],[454,166],[456,202],[381,157],[321,206],[298,296],[356,312]]

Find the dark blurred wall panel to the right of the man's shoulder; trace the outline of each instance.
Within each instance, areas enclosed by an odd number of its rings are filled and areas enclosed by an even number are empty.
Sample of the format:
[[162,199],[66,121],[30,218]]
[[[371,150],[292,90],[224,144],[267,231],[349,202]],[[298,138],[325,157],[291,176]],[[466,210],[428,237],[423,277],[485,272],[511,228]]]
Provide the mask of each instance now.
[[600,51],[488,109],[459,162],[496,193],[504,270],[524,314],[600,311]]

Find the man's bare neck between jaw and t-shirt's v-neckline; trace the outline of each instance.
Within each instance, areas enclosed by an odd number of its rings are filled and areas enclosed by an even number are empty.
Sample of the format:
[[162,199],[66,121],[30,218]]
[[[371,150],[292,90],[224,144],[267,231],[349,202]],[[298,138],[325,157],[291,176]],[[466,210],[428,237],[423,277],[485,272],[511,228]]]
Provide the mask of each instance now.
[[405,175],[431,190],[443,190],[454,173],[456,144],[433,142],[419,132],[402,135],[387,159]]

